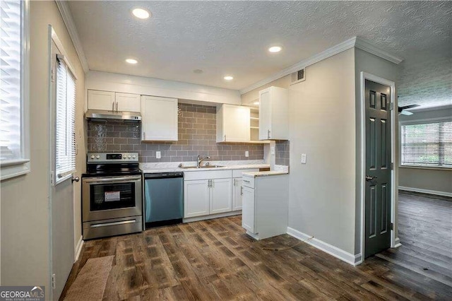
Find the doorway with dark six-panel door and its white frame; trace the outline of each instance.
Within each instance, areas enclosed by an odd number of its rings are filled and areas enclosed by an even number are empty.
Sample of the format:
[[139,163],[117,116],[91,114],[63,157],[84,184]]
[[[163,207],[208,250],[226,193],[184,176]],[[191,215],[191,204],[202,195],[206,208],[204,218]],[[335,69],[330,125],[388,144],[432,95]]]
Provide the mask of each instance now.
[[361,73],[361,261],[398,247],[395,83]]

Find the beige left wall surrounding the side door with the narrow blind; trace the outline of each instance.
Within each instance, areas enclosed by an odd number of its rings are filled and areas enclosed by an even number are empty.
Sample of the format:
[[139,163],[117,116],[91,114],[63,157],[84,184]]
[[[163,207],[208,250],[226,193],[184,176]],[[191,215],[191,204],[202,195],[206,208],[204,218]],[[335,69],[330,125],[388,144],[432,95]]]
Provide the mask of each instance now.
[[[76,133],[83,133],[84,74],[54,1],[30,1],[31,172],[1,182],[1,285],[45,285],[49,297],[49,91],[48,25],[76,69]],[[85,168],[85,141],[77,135],[78,175]],[[76,235],[81,235],[80,183],[74,185]],[[70,200],[69,200],[70,201]],[[68,233],[73,235],[73,233]]]

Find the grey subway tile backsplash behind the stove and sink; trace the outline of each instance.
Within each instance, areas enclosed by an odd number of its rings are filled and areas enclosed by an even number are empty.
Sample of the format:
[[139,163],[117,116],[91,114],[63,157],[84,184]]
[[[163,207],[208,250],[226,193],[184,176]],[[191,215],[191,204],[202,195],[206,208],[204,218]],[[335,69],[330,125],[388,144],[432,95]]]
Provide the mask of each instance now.
[[[218,161],[263,159],[262,144],[215,142],[216,107],[179,103],[179,109],[178,141],[141,142],[138,122],[89,120],[88,151],[133,151],[139,154],[142,163],[196,161],[198,154]],[[155,158],[156,151],[160,151],[162,158]],[[245,151],[249,151],[249,157],[245,157]]]

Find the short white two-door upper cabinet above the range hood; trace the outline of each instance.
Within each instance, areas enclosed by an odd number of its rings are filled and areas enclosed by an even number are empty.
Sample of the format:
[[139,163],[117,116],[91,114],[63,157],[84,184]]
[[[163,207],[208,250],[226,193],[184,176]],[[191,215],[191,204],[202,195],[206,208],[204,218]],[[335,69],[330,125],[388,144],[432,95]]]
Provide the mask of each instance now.
[[140,95],[88,90],[88,110],[140,112]]

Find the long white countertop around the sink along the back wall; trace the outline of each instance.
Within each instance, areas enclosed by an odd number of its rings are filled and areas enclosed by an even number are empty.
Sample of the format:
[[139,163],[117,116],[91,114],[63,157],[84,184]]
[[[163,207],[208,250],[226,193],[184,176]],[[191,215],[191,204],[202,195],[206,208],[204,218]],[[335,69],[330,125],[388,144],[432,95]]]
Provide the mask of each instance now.
[[[181,168],[181,163],[163,162],[163,163],[141,163],[140,169],[145,174],[156,172],[199,172],[208,170],[242,170],[254,168],[270,168],[269,164],[263,163],[263,160],[242,160],[242,161],[207,161],[209,165],[220,165],[221,167],[210,168]],[[206,163],[203,162],[203,165]],[[196,166],[196,162],[183,162],[183,166]]]

